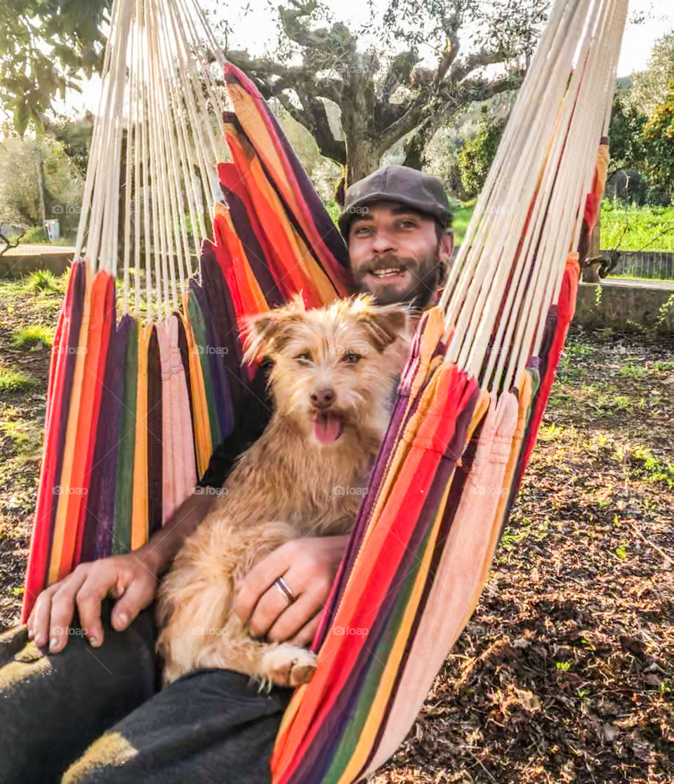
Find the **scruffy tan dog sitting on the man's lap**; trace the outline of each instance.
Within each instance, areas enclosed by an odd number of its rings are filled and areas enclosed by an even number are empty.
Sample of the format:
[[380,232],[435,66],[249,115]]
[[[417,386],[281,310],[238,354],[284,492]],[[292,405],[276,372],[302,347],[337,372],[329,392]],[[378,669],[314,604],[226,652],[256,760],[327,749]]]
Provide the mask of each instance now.
[[312,652],[254,640],[230,604],[255,563],[289,539],[350,532],[362,498],[353,488],[367,485],[386,431],[410,316],[402,305],[376,307],[368,295],[316,310],[296,297],[248,322],[245,360],[273,361],[274,416],[161,585],[165,683],[205,667],[267,685],[310,680]]

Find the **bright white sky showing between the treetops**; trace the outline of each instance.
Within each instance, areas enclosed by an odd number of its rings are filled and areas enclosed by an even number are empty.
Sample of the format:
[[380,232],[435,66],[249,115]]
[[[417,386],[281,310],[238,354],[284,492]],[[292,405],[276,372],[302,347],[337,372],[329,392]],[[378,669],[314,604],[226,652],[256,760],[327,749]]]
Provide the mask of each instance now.
[[[201,0],[201,2],[216,19],[221,16],[229,20],[230,27],[235,31],[230,45],[235,49],[248,49],[250,54],[259,55],[267,46],[273,47],[276,24],[267,0],[248,0],[250,10],[247,14],[241,11],[243,4],[240,2],[236,4],[222,2],[222,0]],[[368,2],[363,0],[326,0],[326,2],[335,14],[335,18],[345,22],[350,29],[355,29],[368,20],[370,13]],[[371,0],[371,5],[375,9],[383,9],[387,5],[387,0]],[[641,24],[636,24],[636,19],[640,17],[643,21]],[[674,0],[630,0],[628,23],[618,62],[618,76],[627,76],[633,71],[643,69],[654,41],[672,29],[674,29]],[[370,40],[375,42],[374,38]],[[369,41],[366,37],[362,38],[361,42],[367,45]],[[422,51],[420,54],[424,55]],[[432,50],[429,48],[428,56],[431,54]],[[82,93],[71,93],[67,97],[67,109],[78,112],[86,107],[89,111],[96,111],[99,85],[98,79],[94,78],[83,85]]]

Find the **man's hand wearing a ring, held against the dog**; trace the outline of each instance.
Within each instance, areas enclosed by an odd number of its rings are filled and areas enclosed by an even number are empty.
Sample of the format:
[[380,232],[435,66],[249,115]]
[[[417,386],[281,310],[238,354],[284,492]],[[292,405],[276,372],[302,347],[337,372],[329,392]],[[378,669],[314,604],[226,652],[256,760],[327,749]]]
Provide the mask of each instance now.
[[[293,539],[255,564],[234,600],[234,612],[248,621],[252,637],[301,648],[311,644],[348,539]],[[277,577],[283,577],[297,601],[288,604],[274,585]]]

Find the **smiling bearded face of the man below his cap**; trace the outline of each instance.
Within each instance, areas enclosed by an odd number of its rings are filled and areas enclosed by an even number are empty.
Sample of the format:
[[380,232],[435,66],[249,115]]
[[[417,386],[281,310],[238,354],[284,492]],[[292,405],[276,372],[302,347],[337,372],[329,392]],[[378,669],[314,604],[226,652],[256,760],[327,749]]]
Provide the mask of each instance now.
[[375,201],[356,216],[349,232],[351,272],[359,292],[380,305],[423,308],[441,280],[441,261],[451,256],[451,234],[437,238],[433,217],[395,201]]

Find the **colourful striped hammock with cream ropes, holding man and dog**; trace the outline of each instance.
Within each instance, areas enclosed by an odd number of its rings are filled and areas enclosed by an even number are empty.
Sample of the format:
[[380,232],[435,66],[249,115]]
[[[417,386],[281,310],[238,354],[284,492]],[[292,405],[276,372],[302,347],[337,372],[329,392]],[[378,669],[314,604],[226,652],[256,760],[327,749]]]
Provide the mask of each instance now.
[[[625,15],[626,0],[553,8],[419,323],[274,784],[379,768],[473,613],[573,318]],[[114,2],[75,258],[24,620],[45,586],[143,545],[192,492],[250,394],[242,319],[295,292],[307,307],[350,292],[342,238],[195,0]]]

